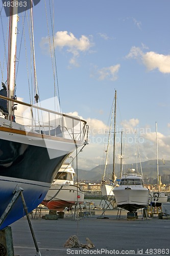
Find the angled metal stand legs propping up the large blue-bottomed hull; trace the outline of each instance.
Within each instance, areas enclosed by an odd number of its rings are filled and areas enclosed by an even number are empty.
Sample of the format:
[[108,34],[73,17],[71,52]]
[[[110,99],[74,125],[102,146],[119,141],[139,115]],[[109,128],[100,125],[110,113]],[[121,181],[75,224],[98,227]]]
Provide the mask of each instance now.
[[31,221],[30,221],[30,216],[29,216],[29,212],[28,212],[28,207],[26,205],[26,202],[25,202],[25,199],[23,197],[23,188],[21,187],[15,187],[14,191],[13,191],[13,198],[11,199],[10,203],[8,204],[7,208],[5,209],[3,215],[1,216],[0,218],[0,224],[3,223],[3,221],[5,220],[5,218],[7,217],[10,209],[12,208],[12,206],[14,205],[15,201],[17,200],[17,198],[20,196],[21,197],[21,200],[22,200],[22,204],[23,204],[23,208],[26,212],[26,216],[27,216],[27,220],[28,220],[28,223],[29,223],[29,226],[30,226],[30,230],[31,230],[31,234],[32,234],[32,237],[33,237],[33,241],[34,241],[34,244],[35,244],[35,248],[36,248],[36,251],[37,251],[37,256],[41,256],[41,253],[39,251],[39,248],[38,248],[38,245],[37,245],[37,241],[36,241],[36,238],[35,238],[35,234],[34,234],[34,230],[33,230],[33,227],[32,227],[32,224],[31,224]]

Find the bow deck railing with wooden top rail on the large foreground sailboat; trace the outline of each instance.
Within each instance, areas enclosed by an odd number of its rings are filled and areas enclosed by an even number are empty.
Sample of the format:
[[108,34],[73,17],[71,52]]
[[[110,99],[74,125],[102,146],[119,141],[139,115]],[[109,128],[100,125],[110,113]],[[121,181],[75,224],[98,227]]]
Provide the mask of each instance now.
[[[12,105],[13,111],[10,114],[3,112],[1,100],[7,100],[8,104],[10,102],[10,105]],[[20,130],[25,130],[26,132],[57,136],[87,143],[88,125],[85,120],[79,117],[47,110],[37,105],[9,99],[1,95],[0,110],[2,117],[9,120],[2,122],[1,126],[5,123],[10,128],[15,128],[15,124],[20,124]]]

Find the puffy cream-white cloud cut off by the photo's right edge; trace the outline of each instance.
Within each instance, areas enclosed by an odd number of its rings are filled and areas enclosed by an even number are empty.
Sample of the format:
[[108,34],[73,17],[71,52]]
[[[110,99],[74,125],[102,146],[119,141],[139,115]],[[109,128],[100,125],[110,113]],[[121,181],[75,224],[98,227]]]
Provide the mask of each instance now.
[[144,53],[139,47],[133,46],[126,58],[140,59],[149,71],[158,69],[161,73],[170,73],[170,55],[152,51]]

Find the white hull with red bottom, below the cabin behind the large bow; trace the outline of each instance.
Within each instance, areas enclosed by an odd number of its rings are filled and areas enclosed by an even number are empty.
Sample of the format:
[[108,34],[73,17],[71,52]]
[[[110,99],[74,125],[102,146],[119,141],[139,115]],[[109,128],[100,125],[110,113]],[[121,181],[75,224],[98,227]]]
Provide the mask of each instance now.
[[84,202],[84,192],[75,185],[52,185],[41,204],[50,210],[63,211],[65,207]]

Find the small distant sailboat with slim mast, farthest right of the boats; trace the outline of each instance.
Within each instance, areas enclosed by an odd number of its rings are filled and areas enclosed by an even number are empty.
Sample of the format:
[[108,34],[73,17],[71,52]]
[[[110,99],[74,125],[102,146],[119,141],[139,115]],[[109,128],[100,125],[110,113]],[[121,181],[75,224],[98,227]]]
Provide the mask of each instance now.
[[160,191],[160,176],[159,176],[159,158],[158,158],[158,135],[157,135],[157,122],[156,122],[156,156],[157,156],[157,190],[150,191],[149,204],[152,206],[161,206],[162,203],[167,202],[167,196],[164,192]]

